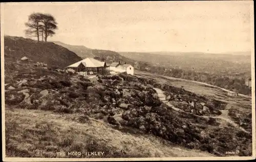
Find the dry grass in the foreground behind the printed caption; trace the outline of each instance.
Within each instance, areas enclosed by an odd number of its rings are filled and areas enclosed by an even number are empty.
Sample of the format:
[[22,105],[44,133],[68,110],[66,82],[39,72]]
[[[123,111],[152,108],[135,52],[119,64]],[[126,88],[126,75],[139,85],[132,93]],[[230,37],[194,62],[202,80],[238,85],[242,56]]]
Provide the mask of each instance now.
[[83,157],[90,151],[105,152],[102,157],[214,156],[151,135],[118,131],[96,120],[79,123],[75,114],[6,109],[5,121],[7,157],[57,157],[60,151],[79,151]]

